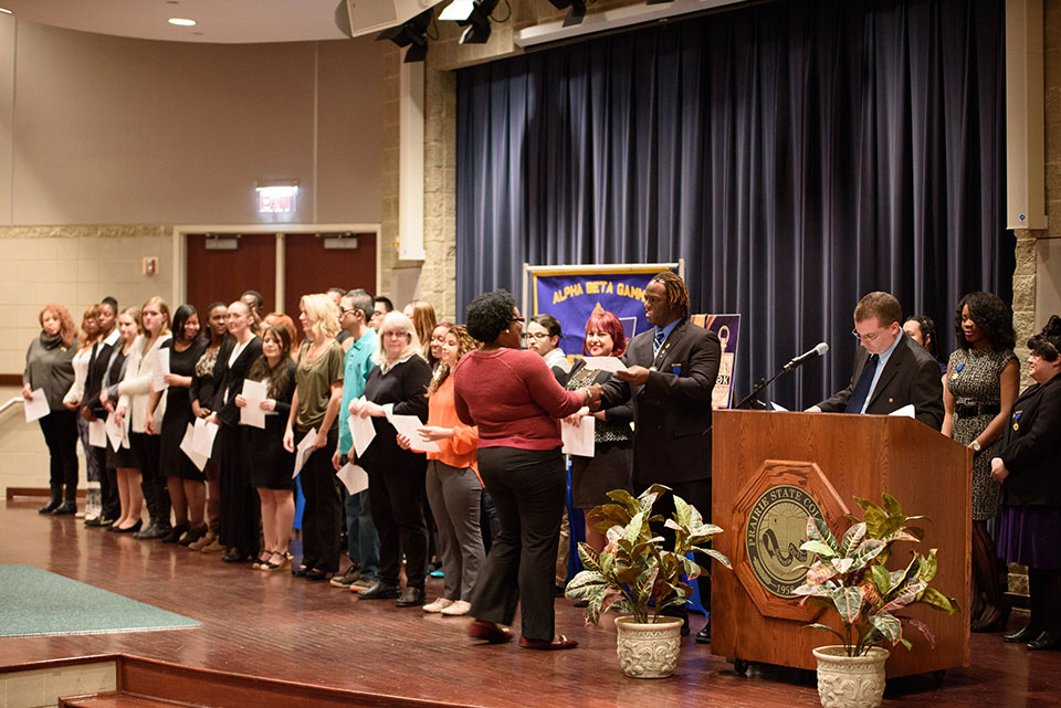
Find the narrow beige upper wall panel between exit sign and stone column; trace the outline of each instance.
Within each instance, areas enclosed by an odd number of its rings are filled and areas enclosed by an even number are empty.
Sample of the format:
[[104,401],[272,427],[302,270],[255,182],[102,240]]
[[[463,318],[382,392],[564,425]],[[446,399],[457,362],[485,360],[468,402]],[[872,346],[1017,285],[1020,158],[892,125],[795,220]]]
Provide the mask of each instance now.
[[319,223],[380,220],[384,44],[370,36],[318,44]]

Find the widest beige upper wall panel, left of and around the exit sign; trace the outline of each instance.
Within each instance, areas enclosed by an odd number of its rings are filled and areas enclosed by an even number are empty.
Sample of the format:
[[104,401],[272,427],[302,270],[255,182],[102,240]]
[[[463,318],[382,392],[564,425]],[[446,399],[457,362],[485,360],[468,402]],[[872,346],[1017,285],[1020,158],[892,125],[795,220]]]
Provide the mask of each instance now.
[[253,223],[313,198],[313,44],[149,42],[19,24],[15,224]]

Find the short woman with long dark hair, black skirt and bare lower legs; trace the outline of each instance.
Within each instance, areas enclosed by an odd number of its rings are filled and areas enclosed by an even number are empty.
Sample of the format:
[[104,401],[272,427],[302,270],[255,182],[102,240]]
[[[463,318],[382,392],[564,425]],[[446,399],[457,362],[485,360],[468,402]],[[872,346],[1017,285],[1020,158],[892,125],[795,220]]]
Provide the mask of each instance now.
[[[279,570],[291,562],[287,545],[295,520],[295,483],[291,471],[295,456],[284,450],[284,429],[291,414],[295,390],[295,362],[291,359],[291,334],[283,325],[273,325],[262,339],[262,356],[251,364],[250,381],[264,381],[267,399],[262,401],[265,427],[250,429],[251,484],[262,501],[264,548],[254,570]],[[246,406],[246,399],[235,397]]]

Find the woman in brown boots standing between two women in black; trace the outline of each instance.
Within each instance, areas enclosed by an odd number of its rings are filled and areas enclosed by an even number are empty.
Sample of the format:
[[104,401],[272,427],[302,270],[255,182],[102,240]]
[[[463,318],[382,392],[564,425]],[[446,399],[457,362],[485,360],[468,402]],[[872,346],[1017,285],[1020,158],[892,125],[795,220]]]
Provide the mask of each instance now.
[[[207,308],[207,336],[210,344],[207,346],[188,388],[188,398],[191,399],[191,412],[196,418],[210,415],[213,408],[213,368],[218,363],[218,351],[229,336],[229,308],[224,303],[212,303]],[[214,441],[213,453],[207,461],[202,472],[207,477],[207,535],[198,541],[191,541],[188,548],[197,551],[220,552],[222,549],[218,540],[221,529],[221,472],[218,467],[218,444]]]

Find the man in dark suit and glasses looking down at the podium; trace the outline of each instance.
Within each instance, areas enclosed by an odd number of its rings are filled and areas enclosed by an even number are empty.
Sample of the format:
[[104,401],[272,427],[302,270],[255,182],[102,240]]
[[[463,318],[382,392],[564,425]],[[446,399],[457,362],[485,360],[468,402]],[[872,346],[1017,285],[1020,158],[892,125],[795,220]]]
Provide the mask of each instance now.
[[886,415],[904,405],[914,418],[939,430],[943,424],[943,383],[939,364],[902,330],[903,310],[889,293],[870,293],[854,308],[859,339],[854,371],[848,388],[809,411]]

